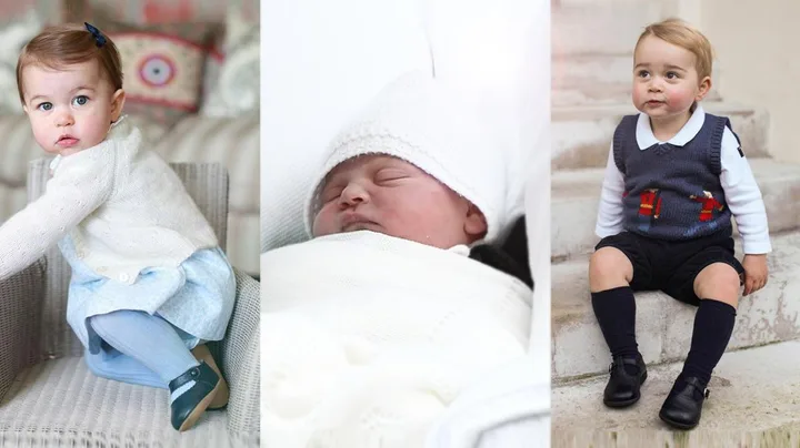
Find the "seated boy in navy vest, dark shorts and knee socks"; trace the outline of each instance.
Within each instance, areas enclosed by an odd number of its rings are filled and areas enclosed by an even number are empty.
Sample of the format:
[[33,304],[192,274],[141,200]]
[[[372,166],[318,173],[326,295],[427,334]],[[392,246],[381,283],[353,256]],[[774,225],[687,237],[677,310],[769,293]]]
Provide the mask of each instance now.
[[[633,291],[661,289],[698,307],[691,347],[661,407],[667,424],[700,421],[711,371],[728,345],[740,286],[767,283],[771,251],[761,193],[722,116],[700,101],[711,89],[712,50],[690,26],[670,19],[639,37],[633,105],[609,154],[589,266],[592,307],[613,362],[609,407],[639,400],[647,368],[638,350]],[[744,259],[733,256],[731,216]]]

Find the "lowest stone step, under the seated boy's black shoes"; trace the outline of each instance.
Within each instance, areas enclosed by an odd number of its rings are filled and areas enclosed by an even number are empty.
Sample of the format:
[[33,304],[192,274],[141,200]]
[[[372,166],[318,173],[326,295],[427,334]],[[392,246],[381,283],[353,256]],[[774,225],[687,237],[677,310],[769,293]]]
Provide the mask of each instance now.
[[606,375],[553,385],[552,447],[800,447],[800,340],[726,354],[688,432],[658,417],[681,368],[649,368],[642,398],[619,410],[602,404]]

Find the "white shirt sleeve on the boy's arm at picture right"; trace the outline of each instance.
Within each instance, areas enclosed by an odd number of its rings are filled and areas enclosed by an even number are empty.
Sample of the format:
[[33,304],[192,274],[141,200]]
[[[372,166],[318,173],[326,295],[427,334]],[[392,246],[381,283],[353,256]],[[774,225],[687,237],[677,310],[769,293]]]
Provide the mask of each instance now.
[[720,164],[722,165],[720,183],[742,237],[744,254],[771,252],[772,245],[761,190],[756,183],[747,159],[739,153],[739,142],[728,128],[722,133]]

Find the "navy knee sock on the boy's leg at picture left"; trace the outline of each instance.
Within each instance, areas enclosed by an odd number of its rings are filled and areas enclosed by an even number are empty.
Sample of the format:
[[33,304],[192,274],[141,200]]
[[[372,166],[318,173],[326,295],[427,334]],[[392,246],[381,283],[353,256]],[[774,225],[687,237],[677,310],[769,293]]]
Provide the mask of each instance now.
[[633,289],[630,286],[621,286],[592,293],[592,308],[611,356],[639,356]]

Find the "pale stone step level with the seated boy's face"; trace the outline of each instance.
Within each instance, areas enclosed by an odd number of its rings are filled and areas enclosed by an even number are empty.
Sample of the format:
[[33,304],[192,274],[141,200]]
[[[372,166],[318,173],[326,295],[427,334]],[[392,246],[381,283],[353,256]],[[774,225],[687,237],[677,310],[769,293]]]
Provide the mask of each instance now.
[[[551,67],[553,108],[630,104],[633,54],[553,55]],[[720,101],[712,89],[706,101]]]

